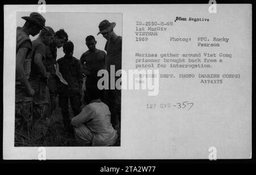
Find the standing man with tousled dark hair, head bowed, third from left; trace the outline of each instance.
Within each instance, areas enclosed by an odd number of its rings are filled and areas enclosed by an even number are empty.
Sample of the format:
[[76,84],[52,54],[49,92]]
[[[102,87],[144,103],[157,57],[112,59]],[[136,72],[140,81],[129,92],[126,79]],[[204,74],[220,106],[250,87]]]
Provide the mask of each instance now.
[[56,76],[56,58],[57,48],[61,48],[68,41],[68,35],[64,29],[60,29],[55,33],[55,36],[49,46],[46,46],[46,71],[49,76],[48,87],[51,99],[51,113],[56,108],[57,97],[57,76]]

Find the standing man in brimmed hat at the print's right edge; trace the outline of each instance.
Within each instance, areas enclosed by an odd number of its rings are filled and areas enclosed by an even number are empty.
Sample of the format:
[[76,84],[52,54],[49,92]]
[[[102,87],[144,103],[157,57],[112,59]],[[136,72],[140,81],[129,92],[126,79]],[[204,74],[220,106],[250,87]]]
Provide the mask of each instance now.
[[[114,65],[115,70],[122,69],[122,37],[115,34],[113,28],[115,27],[115,23],[110,23],[108,20],[103,20],[98,28],[102,36],[107,40],[105,45],[106,50],[106,61],[105,67],[106,70],[110,74],[110,67]],[[115,74],[114,74],[115,76]],[[117,81],[117,77],[115,78],[115,82]],[[109,77],[110,82],[110,77]],[[110,82],[111,83],[111,82]],[[115,86],[114,86],[115,87]],[[111,112],[112,124],[115,129],[120,130],[120,122],[121,122],[121,89],[107,89],[104,93],[104,102],[109,106],[109,110]],[[120,134],[120,133],[119,133]]]

